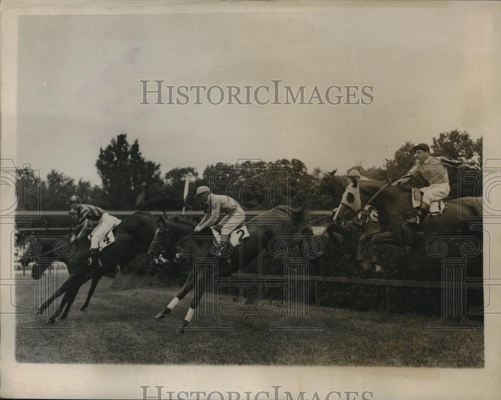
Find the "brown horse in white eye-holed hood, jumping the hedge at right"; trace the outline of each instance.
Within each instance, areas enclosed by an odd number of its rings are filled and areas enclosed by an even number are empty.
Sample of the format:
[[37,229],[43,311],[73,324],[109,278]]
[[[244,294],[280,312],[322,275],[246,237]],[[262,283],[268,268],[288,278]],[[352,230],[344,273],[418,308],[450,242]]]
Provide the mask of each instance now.
[[[338,179],[333,176],[330,180]],[[339,188],[342,185],[334,182],[333,186]],[[416,213],[412,206],[412,192],[374,180],[357,182],[353,179],[346,186],[334,223],[342,225],[353,218],[369,200],[378,210],[379,230],[366,233],[359,240],[357,261],[365,271],[383,271],[374,251],[376,244],[421,247],[435,235],[481,235],[480,231],[470,229],[470,221],[479,220],[482,216],[481,197],[447,200],[443,212],[428,215],[426,221],[422,222],[424,226],[416,231],[414,225],[405,222]],[[367,244],[367,256],[364,257]]]

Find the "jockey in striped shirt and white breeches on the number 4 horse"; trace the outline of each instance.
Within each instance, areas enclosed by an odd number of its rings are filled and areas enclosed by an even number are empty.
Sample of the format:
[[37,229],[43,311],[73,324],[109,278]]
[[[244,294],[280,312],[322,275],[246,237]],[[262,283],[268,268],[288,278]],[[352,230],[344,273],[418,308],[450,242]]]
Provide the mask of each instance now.
[[120,223],[120,220],[111,216],[102,208],[92,206],[90,204],[82,204],[82,200],[77,195],[71,196],[67,204],[70,204],[71,210],[74,210],[77,213],[77,225],[84,224],[81,232],[85,231],[89,220],[97,221],[98,223],[91,236],[91,255],[88,260],[90,265],[97,259],[99,254],[99,241],[111,229],[117,226]]

